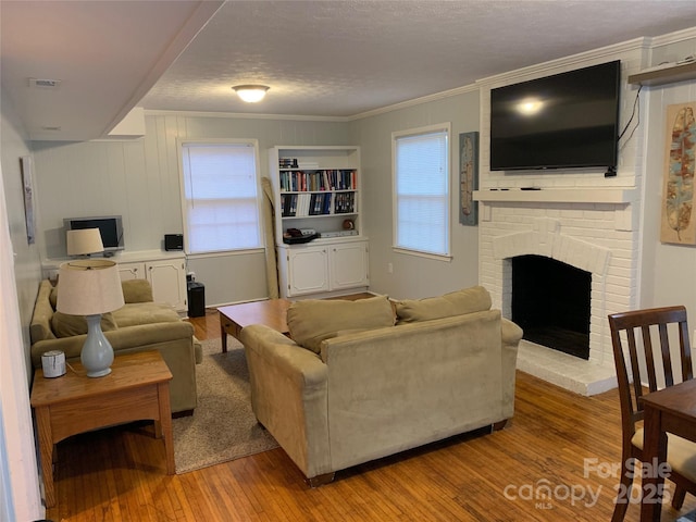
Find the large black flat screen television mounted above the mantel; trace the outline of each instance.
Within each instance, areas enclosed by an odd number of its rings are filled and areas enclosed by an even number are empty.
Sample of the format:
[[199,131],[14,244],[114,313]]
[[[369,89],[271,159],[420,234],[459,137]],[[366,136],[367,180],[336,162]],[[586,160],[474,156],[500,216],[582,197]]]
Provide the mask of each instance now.
[[490,170],[616,170],[621,62],[490,90]]

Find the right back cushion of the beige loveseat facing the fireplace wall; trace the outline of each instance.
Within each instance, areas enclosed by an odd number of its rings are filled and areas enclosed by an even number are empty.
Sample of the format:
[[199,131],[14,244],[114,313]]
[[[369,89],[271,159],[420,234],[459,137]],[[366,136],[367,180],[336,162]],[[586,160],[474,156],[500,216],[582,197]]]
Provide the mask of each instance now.
[[431,321],[490,309],[490,294],[483,286],[473,286],[439,297],[396,301],[397,324]]

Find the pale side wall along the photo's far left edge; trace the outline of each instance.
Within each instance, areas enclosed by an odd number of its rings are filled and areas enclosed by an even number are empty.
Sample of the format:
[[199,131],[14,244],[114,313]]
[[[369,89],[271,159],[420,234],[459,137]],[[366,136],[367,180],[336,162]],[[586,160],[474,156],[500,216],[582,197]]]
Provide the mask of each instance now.
[[29,407],[28,350],[40,271],[38,250],[28,245],[24,223],[20,158],[30,153],[26,133],[4,91],[0,107],[0,520],[22,522],[45,514]]

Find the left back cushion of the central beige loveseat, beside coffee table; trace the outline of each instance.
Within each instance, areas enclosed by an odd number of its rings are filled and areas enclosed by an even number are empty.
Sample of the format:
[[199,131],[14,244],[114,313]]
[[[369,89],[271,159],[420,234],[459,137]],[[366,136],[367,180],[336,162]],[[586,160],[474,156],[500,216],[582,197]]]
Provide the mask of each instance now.
[[320,353],[322,340],[338,332],[394,326],[394,313],[386,296],[356,301],[307,299],[289,306],[287,326],[295,343]]

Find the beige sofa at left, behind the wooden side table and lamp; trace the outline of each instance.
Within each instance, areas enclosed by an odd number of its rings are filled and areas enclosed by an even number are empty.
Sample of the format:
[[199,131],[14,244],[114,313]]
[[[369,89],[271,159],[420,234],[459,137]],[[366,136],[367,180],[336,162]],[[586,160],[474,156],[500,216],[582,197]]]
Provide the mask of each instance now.
[[[101,326],[114,355],[159,350],[172,372],[170,397],[172,413],[187,413],[196,408],[196,364],[202,361],[200,343],[194,326],[182,321],[165,303],[152,302],[152,288],[145,279],[124,281],[126,304],[104,314]],[[34,306],[29,333],[32,363],[40,368],[41,355],[61,350],[69,362],[79,361],[87,337],[84,318],[55,311],[58,288],[45,279]]]

